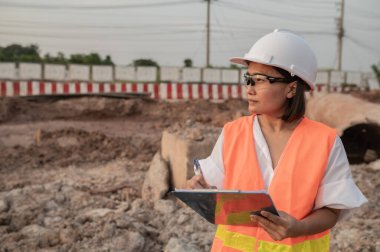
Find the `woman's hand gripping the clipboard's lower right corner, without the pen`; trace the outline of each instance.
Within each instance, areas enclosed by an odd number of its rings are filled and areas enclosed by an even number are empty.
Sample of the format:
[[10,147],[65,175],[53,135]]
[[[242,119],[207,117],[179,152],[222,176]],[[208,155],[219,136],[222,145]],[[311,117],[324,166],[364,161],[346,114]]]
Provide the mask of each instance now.
[[251,220],[261,226],[275,241],[302,234],[302,225],[291,215],[279,211],[280,216],[261,211],[262,216],[251,215]]

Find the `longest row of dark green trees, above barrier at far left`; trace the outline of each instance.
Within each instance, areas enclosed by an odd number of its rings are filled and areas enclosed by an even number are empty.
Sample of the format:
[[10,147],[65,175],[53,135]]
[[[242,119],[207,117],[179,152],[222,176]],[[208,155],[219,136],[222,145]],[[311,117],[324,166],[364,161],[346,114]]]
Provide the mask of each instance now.
[[87,65],[113,65],[111,56],[107,55],[102,59],[98,53],[90,54],[72,54],[67,59],[62,52],[57,56],[51,56],[49,53],[41,57],[38,45],[21,46],[11,44],[6,47],[0,47],[0,62],[38,62],[38,63],[75,63]]

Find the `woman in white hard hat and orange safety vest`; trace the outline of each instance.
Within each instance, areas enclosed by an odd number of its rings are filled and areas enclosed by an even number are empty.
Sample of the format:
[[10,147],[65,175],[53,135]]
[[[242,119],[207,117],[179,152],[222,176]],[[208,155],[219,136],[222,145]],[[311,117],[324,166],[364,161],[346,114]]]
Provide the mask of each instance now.
[[189,188],[267,190],[280,216],[258,227],[219,225],[212,251],[328,251],[329,230],[366,202],[336,131],[304,117],[317,63],[304,39],[275,30],[232,62],[244,75],[251,116],[227,123]]

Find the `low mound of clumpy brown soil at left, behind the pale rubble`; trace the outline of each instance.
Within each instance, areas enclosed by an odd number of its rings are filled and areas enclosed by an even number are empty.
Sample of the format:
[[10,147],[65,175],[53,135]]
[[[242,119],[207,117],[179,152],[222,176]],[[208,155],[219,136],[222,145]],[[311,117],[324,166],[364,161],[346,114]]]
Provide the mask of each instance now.
[[75,128],[57,131],[38,129],[34,138],[35,143],[29,147],[0,148],[0,160],[3,160],[1,173],[22,166],[45,169],[107,162],[121,157],[147,161],[159,147],[159,139],[152,141],[139,136],[112,138],[100,132]]

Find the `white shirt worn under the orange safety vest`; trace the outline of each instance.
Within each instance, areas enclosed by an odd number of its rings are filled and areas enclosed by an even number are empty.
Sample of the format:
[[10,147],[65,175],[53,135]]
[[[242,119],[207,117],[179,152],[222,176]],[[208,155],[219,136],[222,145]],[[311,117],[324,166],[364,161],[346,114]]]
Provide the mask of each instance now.
[[[265,188],[268,190],[276,171],[272,167],[268,145],[261,132],[257,116],[254,118],[253,135],[255,136],[257,160],[263,175]],[[223,189],[224,180],[223,142],[222,132],[211,155],[206,159],[199,160],[205,180],[208,184],[216,186],[218,189]],[[324,177],[318,189],[314,209],[322,207],[342,209],[339,219],[343,219],[349,216],[352,210],[366,202],[367,199],[352,179],[343,143],[340,137],[337,136],[330,152]]]

